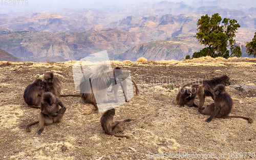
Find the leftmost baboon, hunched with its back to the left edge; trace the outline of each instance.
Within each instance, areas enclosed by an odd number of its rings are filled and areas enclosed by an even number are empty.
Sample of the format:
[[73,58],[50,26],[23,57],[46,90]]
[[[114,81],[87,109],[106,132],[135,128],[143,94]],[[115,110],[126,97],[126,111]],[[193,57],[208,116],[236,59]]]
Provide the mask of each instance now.
[[25,102],[31,108],[40,108],[40,99],[42,95],[42,80],[35,79],[32,84],[29,84],[23,94]]

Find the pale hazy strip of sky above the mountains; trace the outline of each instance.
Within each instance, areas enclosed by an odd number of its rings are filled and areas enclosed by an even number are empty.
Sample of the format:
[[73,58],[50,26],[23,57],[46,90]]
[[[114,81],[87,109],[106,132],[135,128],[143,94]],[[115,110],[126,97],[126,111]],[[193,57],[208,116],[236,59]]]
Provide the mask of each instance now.
[[[1,2],[3,1],[3,2]],[[58,10],[62,8],[96,8],[99,9],[101,7],[106,6],[123,6],[129,5],[138,2],[160,2],[163,0],[16,0],[16,5],[9,4],[9,2],[15,2],[15,0],[1,0],[0,1],[0,13],[8,13],[10,11],[26,11],[26,10]],[[19,5],[17,6],[19,1]],[[191,4],[193,2],[199,2],[200,0],[183,0],[186,4]],[[204,0],[205,1],[205,0]],[[206,0],[209,1],[209,0]],[[214,1],[214,0],[212,0]],[[223,0],[224,1],[224,0]],[[230,3],[244,3],[244,4],[253,4],[255,5],[255,0],[228,0]],[[5,2],[8,2],[5,4]],[[179,0],[172,0],[168,2],[181,2]],[[25,5],[27,3],[28,5]],[[9,6],[12,5],[12,6]],[[252,7],[253,7],[252,5]]]

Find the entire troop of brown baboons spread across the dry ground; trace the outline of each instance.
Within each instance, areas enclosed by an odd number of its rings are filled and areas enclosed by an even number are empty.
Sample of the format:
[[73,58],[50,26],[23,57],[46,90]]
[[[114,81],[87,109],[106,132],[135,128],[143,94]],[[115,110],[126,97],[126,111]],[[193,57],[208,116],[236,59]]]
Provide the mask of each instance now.
[[[108,67],[106,65],[99,65],[95,67],[90,72],[83,75],[80,83],[80,94],[66,94],[61,95],[61,84],[57,76],[53,72],[46,72],[42,79],[36,79],[32,84],[29,84],[24,91],[24,100],[31,108],[40,108],[39,120],[29,123],[26,126],[26,131],[31,131],[30,126],[39,123],[38,134],[44,130],[45,124],[51,124],[54,122],[60,122],[63,115],[66,112],[66,107],[63,105],[59,97],[76,96],[81,97],[81,99],[86,103],[91,103],[95,106],[95,109],[87,112],[86,114],[98,112],[97,101],[95,100],[95,95],[93,88],[97,90],[103,90],[102,99],[100,101],[106,101],[108,99],[106,95],[106,88],[112,85],[112,91],[114,91],[115,100],[117,98],[117,90],[119,83],[121,85],[122,91],[124,93],[125,101],[127,102],[127,88],[126,82],[124,81],[127,76],[124,76],[120,67],[115,67],[111,72],[111,76],[108,72]],[[136,95],[139,93],[139,89],[136,85],[134,79],[130,78],[136,88]],[[243,118],[252,123],[252,119],[243,116],[229,116],[232,109],[232,98],[225,91],[225,86],[230,85],[229,77],[226,75],[220,77],[214,77],[210,80],[195,81],[184,85],[178,92],[176,96],[176,103],[184,106],[188,104],[189,106],[195,106],[199,108],[199,112],[205,115],[211,115],[206,122],[210,122],[212,118]],[[189,86],[189,87],[188,87]],[[205,97],[211,96],[214,103],[207,105],[207,108],[203,107]],[[195,104],[195,98],[199,99],[199,106]],[[60,108],[59,108],[60,106]],[[119,136],[116,135],[117,132],[123,131],[121,127],[122,122],[130,122],[132,119],[124,119],[119,121],[114,121],[115,109],[109,109],[102,114],[100,118],[100,123],[102,129],[106,134],[113,135],[116,137],[126,137],[131,139],[131,136]]]

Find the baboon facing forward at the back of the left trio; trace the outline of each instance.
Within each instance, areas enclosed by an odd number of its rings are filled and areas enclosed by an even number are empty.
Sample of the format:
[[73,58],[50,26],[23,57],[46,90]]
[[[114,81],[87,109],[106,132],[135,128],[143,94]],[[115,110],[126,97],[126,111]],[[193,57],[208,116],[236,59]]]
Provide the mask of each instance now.
[[44,92],[52,92],[55,96],[59,97],[61,92],[61,84],[59,78],[53,72],[46,72],[42,78]]

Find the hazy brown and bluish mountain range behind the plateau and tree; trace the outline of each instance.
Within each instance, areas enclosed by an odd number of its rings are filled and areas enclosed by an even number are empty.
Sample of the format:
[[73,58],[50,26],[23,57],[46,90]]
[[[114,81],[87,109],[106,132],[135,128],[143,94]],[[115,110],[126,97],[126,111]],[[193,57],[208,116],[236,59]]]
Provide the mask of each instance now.
[[[256,31],[256,8],[231,1],[138,3],[125,7],[0,14],[0,48],[23,61],[78,60],[107,50],[111,59],[183,60],[203,46],[197,20],[219,13],[238,20],[238,45]],[[233,9],[232,9],[233,8]],[[142,51],[143,50],[143,51]],[[243,49],[243,56],[245,49]],[[165,56],[164,56],[165,55]]]

